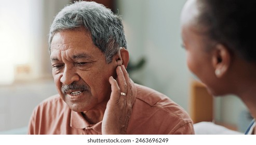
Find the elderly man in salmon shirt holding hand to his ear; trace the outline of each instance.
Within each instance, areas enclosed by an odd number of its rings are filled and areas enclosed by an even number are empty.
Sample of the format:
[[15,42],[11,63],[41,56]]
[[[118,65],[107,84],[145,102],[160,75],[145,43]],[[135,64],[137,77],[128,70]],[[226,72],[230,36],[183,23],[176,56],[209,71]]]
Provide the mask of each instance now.
[[103,5],[66,6],[49,45],[59,94],[34,109],[29,134],[194,134],[179,105],[130,80],[122,21]]

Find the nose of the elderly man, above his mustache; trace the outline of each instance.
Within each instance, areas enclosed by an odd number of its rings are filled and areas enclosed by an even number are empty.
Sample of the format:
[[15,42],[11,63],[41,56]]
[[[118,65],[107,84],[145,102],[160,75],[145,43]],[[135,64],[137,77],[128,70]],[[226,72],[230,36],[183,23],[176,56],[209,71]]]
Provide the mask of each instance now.
[[60,78],[60,81],[65,85],[69,85],[74,81],[78,81],[79,79],[80,77],[74,69],[65,67],[62,77]]

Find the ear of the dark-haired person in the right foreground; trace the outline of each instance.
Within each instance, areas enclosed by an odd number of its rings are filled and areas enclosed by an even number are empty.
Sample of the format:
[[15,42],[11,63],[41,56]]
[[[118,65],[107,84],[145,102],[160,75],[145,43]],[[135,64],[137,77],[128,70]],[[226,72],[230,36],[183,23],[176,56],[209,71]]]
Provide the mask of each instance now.
[[231,64],[230,51],[224,45],[217,44],[213,50],[212,63],[216,77],[223,77]]

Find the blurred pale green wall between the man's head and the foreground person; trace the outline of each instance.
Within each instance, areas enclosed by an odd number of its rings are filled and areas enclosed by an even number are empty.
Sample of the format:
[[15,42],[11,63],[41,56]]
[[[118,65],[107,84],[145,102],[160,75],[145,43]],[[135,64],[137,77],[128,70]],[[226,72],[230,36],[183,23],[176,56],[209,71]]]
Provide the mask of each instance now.
[[180,12],[185,0],[120,0],[131,62],[146,58],[133,79],[166,94],[188,111],[190,72],[181,48]]

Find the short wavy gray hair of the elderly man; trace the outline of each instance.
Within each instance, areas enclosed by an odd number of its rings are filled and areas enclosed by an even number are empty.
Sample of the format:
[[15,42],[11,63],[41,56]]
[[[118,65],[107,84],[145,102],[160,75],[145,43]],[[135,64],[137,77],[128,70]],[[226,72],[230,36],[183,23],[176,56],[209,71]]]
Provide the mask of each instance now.
[[105,55],[107,63],[112,62],[119,47],[127,48],[122,19],[101,4],[79,1],[64,7],[50,27],[49,50],[57,32],[85,27],[93,44]]

